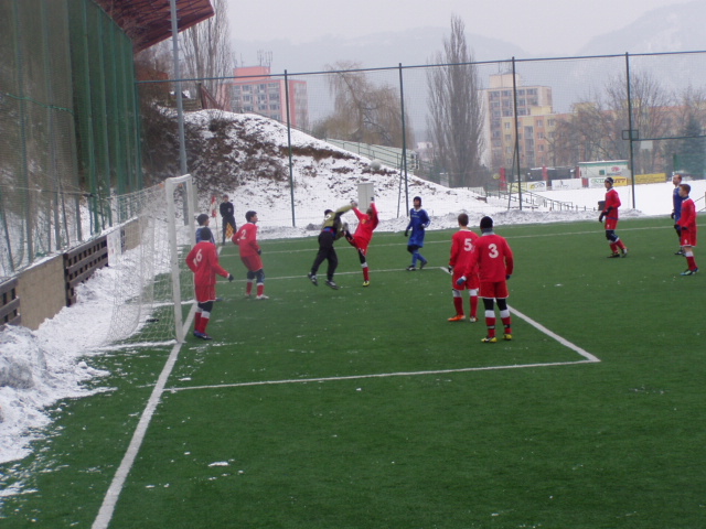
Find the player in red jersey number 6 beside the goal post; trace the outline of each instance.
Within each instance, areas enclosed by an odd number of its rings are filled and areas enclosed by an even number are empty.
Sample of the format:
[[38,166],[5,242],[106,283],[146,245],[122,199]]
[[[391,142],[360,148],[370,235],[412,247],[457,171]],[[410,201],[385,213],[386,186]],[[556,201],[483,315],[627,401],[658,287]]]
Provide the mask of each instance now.
[[211,339],[206,334],[213,302],[216,301],[216,274],[228,278],[233,276],[218,264],[218,251],[216,245],[211,242],[213,234],[210,228],[201,228],[202,240],[194,246],[186,256],[186,266],[194,272],[194,287],[196,292],[196,315],[194,320],[194,336],[202,339]]

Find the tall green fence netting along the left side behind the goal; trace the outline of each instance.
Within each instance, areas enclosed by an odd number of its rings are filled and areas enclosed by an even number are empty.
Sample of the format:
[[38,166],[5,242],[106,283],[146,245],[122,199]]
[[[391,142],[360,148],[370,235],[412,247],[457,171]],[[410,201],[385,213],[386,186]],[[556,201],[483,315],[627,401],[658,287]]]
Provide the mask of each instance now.
[[1,276],[100,233],[110,194],[141,187],[136,101],[132,44],[94,2],[0,1]]

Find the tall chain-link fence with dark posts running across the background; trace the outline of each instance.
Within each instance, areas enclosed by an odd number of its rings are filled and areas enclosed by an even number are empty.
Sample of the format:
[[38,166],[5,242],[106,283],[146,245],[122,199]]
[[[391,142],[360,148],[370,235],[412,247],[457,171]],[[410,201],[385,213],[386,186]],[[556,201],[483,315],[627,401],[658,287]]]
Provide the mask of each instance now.
[[[705,67],[702,51],[298,74],[248,67],[221,79],[218,100],[449,186],[522,192],[552,181],[598,185],[598,176],[602,186],[611,172],[629,185],[672,172],[704,177]],[[229,169],[234,180],[255,171]]]

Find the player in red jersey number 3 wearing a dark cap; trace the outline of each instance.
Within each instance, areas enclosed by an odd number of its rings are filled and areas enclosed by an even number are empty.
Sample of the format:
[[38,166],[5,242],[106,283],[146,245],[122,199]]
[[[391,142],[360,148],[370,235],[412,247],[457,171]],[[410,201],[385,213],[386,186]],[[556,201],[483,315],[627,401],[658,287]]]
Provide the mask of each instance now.
[[500,317],[505,327],[503,338],[512,339],[512,319],[507,306],[507,298],[510,295],[507,280],[512,276],[515,261],[512,249],[505,238],[495,235],[493,231],[492,218],[481,218],[481,233],[483,235],[473,242],[473,251],[466,271],[456,283],[463,284],[467,278],[471,276],[473,267],[478,264],[478,274],[481,283],[480,294],[485,306],[485,325],[488,326],[488,336],[481,342],[494,344],[498,342],[495,337],[495,301],[498,301]]

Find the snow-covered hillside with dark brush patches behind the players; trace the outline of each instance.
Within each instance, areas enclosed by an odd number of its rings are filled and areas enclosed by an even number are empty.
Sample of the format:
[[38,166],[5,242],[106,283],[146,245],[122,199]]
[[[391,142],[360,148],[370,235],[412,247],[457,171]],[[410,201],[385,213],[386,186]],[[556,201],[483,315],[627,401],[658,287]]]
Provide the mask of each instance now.
[[186,120],[189,166],[196,179],[200,209],[207,212],[210,198],[217,196],[220,202],[226,193],[234,202],[236,222],[243,222],[248,209],[258,212],[265,237],[315,233],[324,209],[357,198],[357,185],[368,182],[374,184],[381,231],[404,230],[407,197],[411,204],[414,196],[422,197],[422,206],[432,217],[431,227],[437,229],[456,226],[461,212],[469,213],[472,222],[495,215],[500,224],[586,218],[582,212],[518,212],[509,208],[505,201],[485,199],[469,190],[445,187],[411,174],[405,188],[396,169],[372,171],[366,158],[296,130],[291,131],[292,190],[287,128],[281,123],[215,110],[188,114]]

